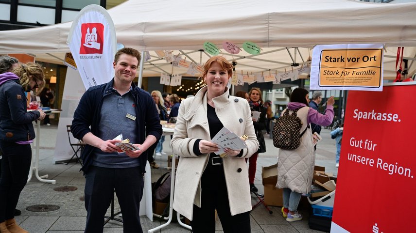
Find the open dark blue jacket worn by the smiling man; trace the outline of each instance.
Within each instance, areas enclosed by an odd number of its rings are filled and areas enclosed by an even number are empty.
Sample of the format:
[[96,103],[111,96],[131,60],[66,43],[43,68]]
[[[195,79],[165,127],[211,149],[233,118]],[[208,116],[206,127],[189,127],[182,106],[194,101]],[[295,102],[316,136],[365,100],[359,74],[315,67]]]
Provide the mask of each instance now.
[[[112,93],[114,78],[106,83],[98,86],[90,87],[86,93],[81,97],[79,105],[74,112],[74,120],[71,125],[72,135],[82,140],[83,137],[91,132],[93,135],[98,135],[98,127],[100,124],[100,111],[103,106],[104,96]],[[130,90],[136,102],[136,124],[138,128],[136,143],[143,144],[146,135],[153,135],[159,140],[162,135],[162,125],[160,124],[159,115],[157,114],[155,101],[149,93],[143,91],[134,83]],[[144,123],[144,124],[143,124]],[[91,129],[90,127],[91,126]],[[117,122],[114,122],[114,127],[117,127]],[[88,145],[81,154],[84,165],[81,171],[84,174],[88,171],[92,163],[92,153],[94,147]],[[141,171],[145,172],[147,162],[147,151],[143,152],[139,158]]]

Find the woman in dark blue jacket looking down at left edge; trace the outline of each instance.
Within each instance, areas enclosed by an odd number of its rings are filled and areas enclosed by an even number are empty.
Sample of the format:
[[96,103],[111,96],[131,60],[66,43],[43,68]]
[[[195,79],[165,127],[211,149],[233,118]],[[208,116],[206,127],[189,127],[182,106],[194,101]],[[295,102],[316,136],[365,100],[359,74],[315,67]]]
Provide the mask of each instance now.
[[25,91],[44,85],[43,69],[36,63],[0,74],[0,233],[27,233],[17,225],[14,212],[31,165],[30,143],[35,138],[32,122],[43,120],[46,114],[42,110],[26,111]]

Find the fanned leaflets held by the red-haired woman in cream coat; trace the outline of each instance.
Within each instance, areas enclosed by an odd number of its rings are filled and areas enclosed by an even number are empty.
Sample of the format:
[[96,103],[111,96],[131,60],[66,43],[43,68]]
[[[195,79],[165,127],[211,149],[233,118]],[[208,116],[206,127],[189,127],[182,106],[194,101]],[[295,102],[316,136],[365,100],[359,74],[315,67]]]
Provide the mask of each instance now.
[[229,148],[235,151],[247,148],[244,140],[242,140],[239,136],[229,131],[225,127],[223,127],[220,132],[214,136],[211,142],[217,144],[220,147],[219,150],[215,152],[215,155],[221,155],[225,153],[225,148]]

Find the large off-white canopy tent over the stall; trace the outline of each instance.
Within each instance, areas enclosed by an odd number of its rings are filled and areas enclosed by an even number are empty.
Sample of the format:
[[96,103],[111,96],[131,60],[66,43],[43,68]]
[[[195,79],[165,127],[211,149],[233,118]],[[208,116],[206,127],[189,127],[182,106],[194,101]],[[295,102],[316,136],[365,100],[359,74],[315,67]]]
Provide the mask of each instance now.
[[[128,0],[108,12],[118,43],[143,51],[174,50],[177,55],[176,50],[181,50],[188,59],[204,62],[207,54],[199,50],[206,41],[219,48],[225,41],[240,47],[246,41],[257,43],[263,48],[258,56],[245,51],[231,56],[222,49],[227,59],[237,62],[238,72],[291,69],[292,63],[307,62],[309,49],[317,44],[385,44],[389,47],[385,77],[395,76],[396,47],[410,47],[405,48],[404,57],[410,59],[410,71],[416,66],[412,63],[416,56],[414,2]],[[71,23],[0,31],[0,54],[30,53],[37,61],[62,63],[63,53],[69,52],[66,40]],[[162,70],[186,72],[151,55],[151,61],[144,64],[144,76],[158,76]]]

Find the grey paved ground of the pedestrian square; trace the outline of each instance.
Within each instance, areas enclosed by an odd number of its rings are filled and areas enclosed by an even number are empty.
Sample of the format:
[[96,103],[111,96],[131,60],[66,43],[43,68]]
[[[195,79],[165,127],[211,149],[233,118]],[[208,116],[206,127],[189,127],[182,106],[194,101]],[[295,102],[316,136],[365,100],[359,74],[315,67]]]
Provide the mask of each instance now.
[[[87,212],[84,208],[83,196],[85,179],[79,172],[80,165],[77,163],[53,164],[53,153],[56,140],[57,126],[42,126],[40,142],[39,174],[48,174],[48,179],[56,180],[56,184],[46,184],[39,182],[35,177],[23,189],[17,209],[22,211],[22,215],[16,217],[20,225],[30,233],[82,233],[85,227]],[[319,142],[316,151],[316,165],[325,166],[327,172],[332,172],[336,176],[334,153],[335,140],[331,140],[329,130],[323,129],[321,132],[323,140]],[[277,148],[273,146],[273,141],[266,138],[267,152],[260,154],[258,159],[255,185],[259,188],[259,193],[263,193],[261,184],[262,166],[270,166],[277,163]],[[169,148],[169,137],[166,137],[164,150],[171,153]],[[162,169],[152,169],[152,181],[165,173],[167,170],[166,155],[156,156],[156,161]],[[75,186],[77,190],[68,192],[58,192],[53,189],[62,186]],[[252,197],[255,204],[257,198]],[[58,210],[50,212],[32,212],[26,210],[28,206],[37,204],[57,205]],[[116,204],[116,210],[119,206]],[[263,205],[258,206],[251,212],[251,232],[252,233],[315,233],[308,226],[308,211],[305,205],[300,206],[299,210],[304,214],[302,221],[289,223],[280,213],[280,207],[271,206],[273,214],[270,215]],[[109,212],[108,212],[109,213]],[[164,220],[150,221],[147,217],[141,217],[143,231],[163,224]],[[122,233],[122,225],[117,221],[110,221],[105,225],[105,233]],[[161,233],[190,233],[189,230],[182,228],[178,223],[173,222],[169,226],[157,231]],[[222,228],[217,222],[217,232],[221,233]]]

